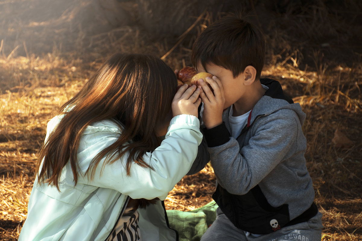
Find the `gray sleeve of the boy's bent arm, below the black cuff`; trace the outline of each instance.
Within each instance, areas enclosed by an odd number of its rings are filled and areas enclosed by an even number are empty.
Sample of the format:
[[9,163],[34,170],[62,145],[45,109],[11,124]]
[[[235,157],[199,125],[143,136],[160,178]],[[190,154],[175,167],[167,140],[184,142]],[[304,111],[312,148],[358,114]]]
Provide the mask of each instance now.
[[[278,114],[262,117],[252,126],[252,137],[241,149],[235,138],[209,147],[211,164],[220,185],[239,195],[256,186],[288,153],[295,150],[296,125],[299,123],[296,118],[293,115],[281,118]],[[220,138],[213,139],[210,145]]]

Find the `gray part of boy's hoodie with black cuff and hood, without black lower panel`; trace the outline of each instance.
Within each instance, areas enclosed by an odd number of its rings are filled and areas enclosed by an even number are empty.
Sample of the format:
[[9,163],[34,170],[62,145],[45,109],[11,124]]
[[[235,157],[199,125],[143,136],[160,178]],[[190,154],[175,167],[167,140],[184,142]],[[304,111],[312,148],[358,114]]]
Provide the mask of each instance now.
[[[223,189],[244,195],[258,185],[272,207],[288,205],[292,220],[311,207],[314,199],[304,158],[306,138],[302,125],[306,115],[299,103],[284,96],[278,81],[260,81],[269,89],[252,109],[239,137],[230,135],[229,107],[223,113],[223,124],[203,129],[204,139]],[[203,154],[202,147],[199,152]],[[207,163],[207,155],[203,155],[198,156],[189,174]]]

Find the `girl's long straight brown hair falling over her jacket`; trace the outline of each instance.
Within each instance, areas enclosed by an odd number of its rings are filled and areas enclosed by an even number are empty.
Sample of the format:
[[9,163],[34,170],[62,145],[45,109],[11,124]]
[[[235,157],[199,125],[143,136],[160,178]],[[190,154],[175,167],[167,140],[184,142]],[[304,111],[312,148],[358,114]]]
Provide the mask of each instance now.
[[173,70],[157,57],[143,54],[111,56],[59,109],[58,114],[65,115],[39,151],[38,182],[55,185],[59,190],[62,169],[70,162],[76,185],[80,175],[77,149],[82,133],[87,126],[101,120],[115,120],[122,128],[122,134],[99,152],[81,175],[94,178],[102,158],[106,157],[103,168],[126,152],[129,152],[127,175],[130,175],[132,163],[152,168],[143,161],[143,155],[160,145],[157,128],[171,119],[168,116],[176,86]]

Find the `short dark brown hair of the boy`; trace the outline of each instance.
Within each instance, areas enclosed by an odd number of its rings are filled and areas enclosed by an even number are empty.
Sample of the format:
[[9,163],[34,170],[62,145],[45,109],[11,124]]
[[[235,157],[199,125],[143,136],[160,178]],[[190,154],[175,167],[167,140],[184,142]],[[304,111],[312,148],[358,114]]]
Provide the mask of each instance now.
[[265,59],[265,38],[251,23],[229,14],[215,21],[201,32],[195,40],[191,53],[191,63],[216,64],[231,70],[234,77],[243,73],[248,65],[256,69],[256,79],[260,79]]

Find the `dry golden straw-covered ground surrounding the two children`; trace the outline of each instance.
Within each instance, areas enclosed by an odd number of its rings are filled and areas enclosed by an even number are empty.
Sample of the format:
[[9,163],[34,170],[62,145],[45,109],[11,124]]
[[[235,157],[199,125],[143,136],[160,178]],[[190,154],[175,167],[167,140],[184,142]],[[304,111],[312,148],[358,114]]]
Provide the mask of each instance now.
[[[47,119],[105,57],[147,52],[179,69],[190,64],[194,33],[215,18],[202,12],[179,38],[155,38],[137,22],[142,1],[123,1],[134,21],[92,33],[89,26],[104,26],[91,24],[100,15],[81,22],[90,8],[85,3],[0,1],[0,241],[17,240],[26,218]],[[323,213],[322,240],[362,240],[362,6],[352,0],[271,3],[248,1],[244,10],[267,38],[262,76],[279,80],[307,114],[306,159]],[[205,205],[214,184],[209,165],[185,176],[169,193],[167,208]]]

